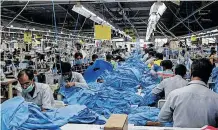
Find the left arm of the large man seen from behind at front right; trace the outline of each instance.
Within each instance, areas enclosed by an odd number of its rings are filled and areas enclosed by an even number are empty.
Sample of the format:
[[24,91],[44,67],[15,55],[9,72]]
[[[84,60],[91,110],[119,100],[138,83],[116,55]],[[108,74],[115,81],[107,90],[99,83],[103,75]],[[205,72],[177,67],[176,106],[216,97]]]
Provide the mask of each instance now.
[[158,115],[158,120],[160,122],[172,122],[173,121],[173,110],[174,104],[172,93],[169,94],[167,101],[165,102],[164,106],[161,108],[161,111]]

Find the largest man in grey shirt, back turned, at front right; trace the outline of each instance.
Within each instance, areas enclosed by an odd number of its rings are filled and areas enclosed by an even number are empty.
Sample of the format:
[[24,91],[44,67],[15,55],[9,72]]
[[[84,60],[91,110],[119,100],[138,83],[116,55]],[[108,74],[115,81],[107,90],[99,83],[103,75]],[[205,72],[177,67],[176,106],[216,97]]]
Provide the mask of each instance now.
[[207,86],[212,69],[208,59],[195,60],[191,66],[192,81],[168,95],[159,113],[159,121],[173,122],[174,127],[217,127],[218,94]]

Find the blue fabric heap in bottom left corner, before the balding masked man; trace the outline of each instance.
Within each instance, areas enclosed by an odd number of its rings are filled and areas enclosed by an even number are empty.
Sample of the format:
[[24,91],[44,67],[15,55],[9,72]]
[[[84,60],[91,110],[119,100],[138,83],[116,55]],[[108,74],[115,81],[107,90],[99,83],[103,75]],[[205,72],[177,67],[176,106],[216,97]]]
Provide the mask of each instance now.
[[68,122],[105,124],[106,119],[84,105],[69,105],[42,112],[37,105],[15,97],[1,104],[1,120],[2,130],[60,130]]

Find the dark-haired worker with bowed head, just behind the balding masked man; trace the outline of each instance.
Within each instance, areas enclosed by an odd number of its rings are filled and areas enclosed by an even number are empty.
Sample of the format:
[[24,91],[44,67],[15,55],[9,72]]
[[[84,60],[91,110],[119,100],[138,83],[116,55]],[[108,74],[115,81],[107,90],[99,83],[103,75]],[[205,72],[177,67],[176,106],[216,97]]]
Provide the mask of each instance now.
[[82,74],[77,72],[72,72],[71,70],[71,64],[68,62],[63,62],[61,64],[61,70],[62,70],[62,77],[60,79],[60,83],[65,82],[66,87],[86,87],[88,88],[88,85],[83,78]]

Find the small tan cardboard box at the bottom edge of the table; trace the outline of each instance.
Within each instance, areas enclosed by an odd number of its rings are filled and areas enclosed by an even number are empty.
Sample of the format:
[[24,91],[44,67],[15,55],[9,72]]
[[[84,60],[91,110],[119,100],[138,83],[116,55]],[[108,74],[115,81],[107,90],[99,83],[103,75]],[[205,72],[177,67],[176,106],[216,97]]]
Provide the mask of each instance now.
[[126,114],[112,114],[104,126],[104,130],[128,130]]

